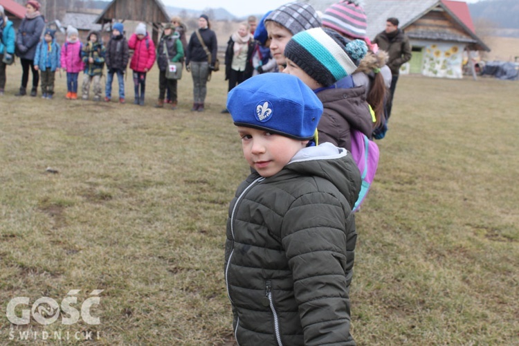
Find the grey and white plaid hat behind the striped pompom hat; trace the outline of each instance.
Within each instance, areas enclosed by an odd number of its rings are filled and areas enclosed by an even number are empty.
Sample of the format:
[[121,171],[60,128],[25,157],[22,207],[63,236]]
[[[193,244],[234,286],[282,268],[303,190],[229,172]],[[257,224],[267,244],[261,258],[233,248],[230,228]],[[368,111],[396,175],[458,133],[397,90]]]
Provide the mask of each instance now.
[[292,35],[309,28],[319,28],[321,20],[316,10],[308,3],[286,3],[271,12],[264,21],[275,21],[289,30]]

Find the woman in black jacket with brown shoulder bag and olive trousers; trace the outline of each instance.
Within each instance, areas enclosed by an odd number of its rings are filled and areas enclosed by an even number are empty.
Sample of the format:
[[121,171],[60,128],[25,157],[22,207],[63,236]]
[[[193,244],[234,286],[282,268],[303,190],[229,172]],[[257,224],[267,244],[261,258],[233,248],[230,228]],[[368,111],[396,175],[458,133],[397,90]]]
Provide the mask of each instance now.
[[207,94],[207,80],[210,71],[215,67],[218,49],[216,34],[210,29],[209,18],[206,15],[200,16],[198,27],[198,30],[192,33],[188,49],[185,52],[185,69],[192,72],[193,78],[192,111],[203,111],[203,103]]

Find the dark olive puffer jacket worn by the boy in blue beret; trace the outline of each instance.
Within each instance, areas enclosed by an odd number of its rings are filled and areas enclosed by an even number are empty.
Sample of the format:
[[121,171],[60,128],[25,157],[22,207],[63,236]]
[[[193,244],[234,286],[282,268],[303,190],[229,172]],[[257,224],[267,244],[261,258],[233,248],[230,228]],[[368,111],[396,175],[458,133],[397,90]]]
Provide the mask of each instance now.
[[225,255],[239,345],[355,345],[349,284],[360,189],[352,156],[330,143],[239,185]]

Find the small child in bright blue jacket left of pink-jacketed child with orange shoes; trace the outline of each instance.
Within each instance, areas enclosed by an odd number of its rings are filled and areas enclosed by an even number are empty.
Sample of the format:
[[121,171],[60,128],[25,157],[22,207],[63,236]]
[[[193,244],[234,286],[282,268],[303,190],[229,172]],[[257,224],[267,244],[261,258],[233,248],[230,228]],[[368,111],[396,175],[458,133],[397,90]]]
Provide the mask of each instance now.
[[46,29],[44,39],[36,46],[34,69],[41,71],[42,98],[52,100],[56,69],[61,67],[60,45],[54,38],[56,31]]

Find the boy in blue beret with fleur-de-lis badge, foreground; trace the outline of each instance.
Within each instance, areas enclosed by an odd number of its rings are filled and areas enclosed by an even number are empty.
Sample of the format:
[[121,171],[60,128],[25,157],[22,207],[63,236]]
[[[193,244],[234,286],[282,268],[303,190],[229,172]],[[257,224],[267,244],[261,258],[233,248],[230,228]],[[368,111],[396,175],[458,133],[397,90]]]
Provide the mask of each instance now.
[[225,279],[240,345],[354,345],[349,334],[361,176],[351,155],[316,145],[322,104],[284,73],[228,94],[252,174],[227,220]]

